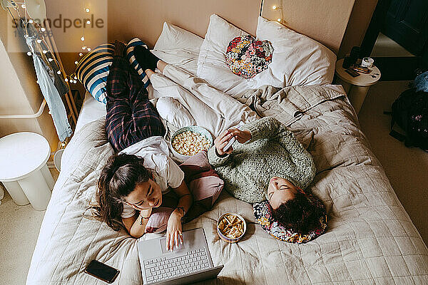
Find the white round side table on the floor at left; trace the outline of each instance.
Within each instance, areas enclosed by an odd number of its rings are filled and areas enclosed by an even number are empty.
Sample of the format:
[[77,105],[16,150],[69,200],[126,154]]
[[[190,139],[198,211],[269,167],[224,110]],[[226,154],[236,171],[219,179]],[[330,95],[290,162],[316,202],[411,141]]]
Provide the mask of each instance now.
[[54,179],[46,165],[49,142],[36,133],[14,133],[0,138],[0,181],[14,202],[46,209]]

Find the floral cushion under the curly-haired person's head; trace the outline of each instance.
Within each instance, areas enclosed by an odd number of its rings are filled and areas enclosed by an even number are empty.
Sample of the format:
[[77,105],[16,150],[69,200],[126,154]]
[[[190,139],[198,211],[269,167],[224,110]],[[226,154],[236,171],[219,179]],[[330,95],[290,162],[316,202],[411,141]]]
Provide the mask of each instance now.
[[307,234],[299,234],[293,229],[283,227],[280,223],[275,221],[272,217],[271,207],[269,202],[263,201],[253,204],[253,212],[255,219],[262,226],[262,228],[275,239],[279,239],[282,242],[292,242],[294,244],[303,244],[309,242],[311,239],[320,236],[327,227],[327,212],[325,211],[324,204],[313,195],[307,195],[314,205],[321,209],[319,223],[310,229]]

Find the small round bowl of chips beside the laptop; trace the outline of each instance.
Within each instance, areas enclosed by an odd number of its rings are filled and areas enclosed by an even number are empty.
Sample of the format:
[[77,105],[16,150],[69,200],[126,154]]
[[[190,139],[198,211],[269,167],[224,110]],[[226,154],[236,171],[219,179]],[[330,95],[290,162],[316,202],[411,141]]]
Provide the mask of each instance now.
[[245,219],[239,214],[225,213],[222,214],[217,222],[217,233],[220,239],[233,244],[239,242],[247,230]]

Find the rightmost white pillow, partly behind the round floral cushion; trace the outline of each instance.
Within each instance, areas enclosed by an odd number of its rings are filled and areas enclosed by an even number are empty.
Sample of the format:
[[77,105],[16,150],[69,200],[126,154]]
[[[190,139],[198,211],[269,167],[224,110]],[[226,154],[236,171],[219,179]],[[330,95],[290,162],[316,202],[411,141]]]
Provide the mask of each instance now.
[[258,18],[258,40],[272,43],[272,63],[251,82],[252,88],[330,84],[335,75],[336,55],[312,38],[292,31],[277,21]]

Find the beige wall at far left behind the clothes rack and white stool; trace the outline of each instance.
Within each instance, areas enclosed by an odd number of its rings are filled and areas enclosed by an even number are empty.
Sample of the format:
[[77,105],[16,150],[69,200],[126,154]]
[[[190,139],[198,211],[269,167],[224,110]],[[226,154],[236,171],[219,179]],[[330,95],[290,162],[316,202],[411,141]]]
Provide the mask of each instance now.
[[[10,26],[7,12],[0,9],[0,115],[32,115],[39,110],[43,97],[25,46],[18,38],[8,36]],[[24,131],[39,133],[56,150],[58,136],[48,111],[45,108],[36,119],[0,119],[0,137]]]

